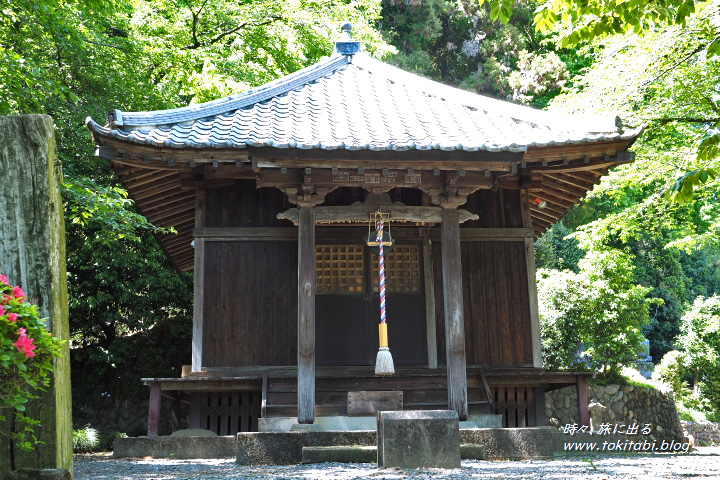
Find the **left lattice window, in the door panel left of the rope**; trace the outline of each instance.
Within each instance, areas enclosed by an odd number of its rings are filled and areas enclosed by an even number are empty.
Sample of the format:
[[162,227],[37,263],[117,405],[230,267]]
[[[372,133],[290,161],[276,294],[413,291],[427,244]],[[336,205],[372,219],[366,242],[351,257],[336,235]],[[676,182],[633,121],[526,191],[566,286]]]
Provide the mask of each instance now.
[[317,245],[317,293],[362,293],[364,245]]

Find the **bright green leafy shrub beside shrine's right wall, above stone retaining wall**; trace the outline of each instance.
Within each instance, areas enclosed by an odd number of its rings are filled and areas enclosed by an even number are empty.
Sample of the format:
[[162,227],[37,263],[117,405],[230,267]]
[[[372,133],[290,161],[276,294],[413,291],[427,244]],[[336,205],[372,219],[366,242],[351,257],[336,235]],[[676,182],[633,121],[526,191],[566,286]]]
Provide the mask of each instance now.
[[[579,272],[538,271],[545,364],[551,369],[600,368],[617,375],[633,365],[644,340],[649,288],[632,282],[629,256],[619,251],[592,252]],[[582,345],[587,356],[578,358]]]

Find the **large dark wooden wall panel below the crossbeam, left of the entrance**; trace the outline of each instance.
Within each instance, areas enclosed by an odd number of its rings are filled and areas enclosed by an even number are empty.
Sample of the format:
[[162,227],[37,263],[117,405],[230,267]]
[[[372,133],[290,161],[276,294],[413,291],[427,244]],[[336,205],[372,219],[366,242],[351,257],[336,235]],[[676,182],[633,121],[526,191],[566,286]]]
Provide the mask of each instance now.
[[205,245],[203,366],[297,364],[297,244]]

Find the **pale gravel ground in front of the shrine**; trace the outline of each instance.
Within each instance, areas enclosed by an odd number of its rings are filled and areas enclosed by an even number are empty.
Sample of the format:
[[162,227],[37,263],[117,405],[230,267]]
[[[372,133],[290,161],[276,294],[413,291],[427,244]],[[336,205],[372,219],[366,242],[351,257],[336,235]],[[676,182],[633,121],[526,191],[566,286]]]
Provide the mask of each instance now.
[[720,480],[720,448],[704,447],[690,454],[593,456],[587,459],[514,462],[463,461],[462,468],[378,469],[374,464],[243,467],[234,460],[115,460],[109,456],[76,455],[76,480],[375,480],[396,479],[715,479]]

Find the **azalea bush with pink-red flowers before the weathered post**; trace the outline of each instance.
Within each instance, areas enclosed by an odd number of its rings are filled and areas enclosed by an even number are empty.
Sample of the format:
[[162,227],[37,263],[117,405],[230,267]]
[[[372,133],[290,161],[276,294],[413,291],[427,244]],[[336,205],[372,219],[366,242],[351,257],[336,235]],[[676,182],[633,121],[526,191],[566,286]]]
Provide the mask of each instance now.
[[15,424],[11,435],[24,450],[37,443],[33,427],[38,425],[24,414],[25,406],[48,386],[61,345],[22,288],[0,275],[0,422]]

